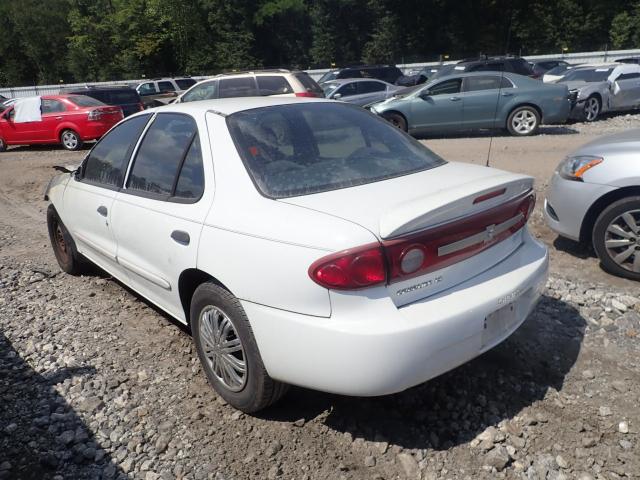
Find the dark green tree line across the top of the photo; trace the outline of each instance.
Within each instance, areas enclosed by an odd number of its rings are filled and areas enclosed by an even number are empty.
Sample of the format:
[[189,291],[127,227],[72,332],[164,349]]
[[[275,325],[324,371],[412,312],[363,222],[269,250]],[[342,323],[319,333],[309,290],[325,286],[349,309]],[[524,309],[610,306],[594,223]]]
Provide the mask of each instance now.
[[640,46],[639,0],[0,0],[0,85]]

